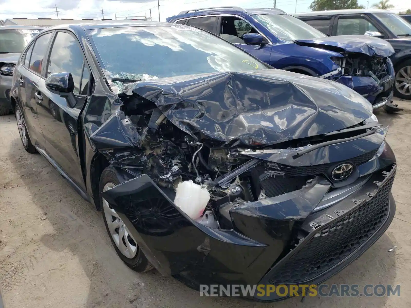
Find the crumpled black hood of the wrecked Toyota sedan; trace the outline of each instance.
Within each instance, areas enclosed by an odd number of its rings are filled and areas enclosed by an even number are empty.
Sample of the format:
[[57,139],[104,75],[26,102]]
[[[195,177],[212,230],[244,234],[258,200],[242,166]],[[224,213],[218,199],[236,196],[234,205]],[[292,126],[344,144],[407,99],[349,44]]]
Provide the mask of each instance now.
[[372,114],[371,104],[344,85],[277,69],[143,80],[125,85],[125,94],[154,102],[194,138],[243,145],[329,133]]

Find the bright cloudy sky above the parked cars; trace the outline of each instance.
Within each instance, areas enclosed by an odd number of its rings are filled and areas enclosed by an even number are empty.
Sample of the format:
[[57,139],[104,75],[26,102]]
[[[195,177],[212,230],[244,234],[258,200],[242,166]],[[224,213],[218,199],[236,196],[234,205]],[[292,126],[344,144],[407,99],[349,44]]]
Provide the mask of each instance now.
[[[309,11],[312,0],[277,0],[277,7],[287,13]],[[367,0],[359,0],[367,7]],[[370,0],[369,7],[377,0]],[[409,3],[407,6],[406,3]],[[390,0],[395,5],[395,12],[411,8],[411,3],[404,0]],[[273,0],[160,0],[160,20],[178,14],[183,9],[214,7],[222,5],[236,5],[240,7],[273,7]],[[157,0],[0,0],[0,19],[13,17],[26,18],[57,18],[55,5],[58,8],[59,18],[94,18],[101,19],[117,16],[150,16],[158,21]],[[120,18],[123,19],[123,18]]]

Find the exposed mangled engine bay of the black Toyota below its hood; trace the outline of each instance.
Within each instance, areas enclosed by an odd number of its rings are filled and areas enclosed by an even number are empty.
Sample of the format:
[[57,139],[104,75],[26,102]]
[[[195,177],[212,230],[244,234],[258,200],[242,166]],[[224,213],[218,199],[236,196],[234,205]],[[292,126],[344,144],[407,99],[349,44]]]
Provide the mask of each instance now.
[[299,138],[270,146],[236,147],[238,140],[226,144],[201,133],[193,138],[171,123],[155,103],[139,95],[120,97],[124,101],[119,112],[121,122],[128,130],[134,131],[138,147],[131,154],[120,156],[117,165],[126,163],[128,168],[149,175],[169,195],[177,191],[179,184],[187,181],[193,183],[190,189],[194,184],[206,189],[210,197],[204,217],[210,216],[212,222],[208,220],[208,225],[214,228],[232,228],[230,209],[297,191],[325,172],[301,173],[298,168],[287,170],[286,166],[250,159],[241,152],[255,148],[297,149],[369,132],[366,122],[360,122],[335,135]]

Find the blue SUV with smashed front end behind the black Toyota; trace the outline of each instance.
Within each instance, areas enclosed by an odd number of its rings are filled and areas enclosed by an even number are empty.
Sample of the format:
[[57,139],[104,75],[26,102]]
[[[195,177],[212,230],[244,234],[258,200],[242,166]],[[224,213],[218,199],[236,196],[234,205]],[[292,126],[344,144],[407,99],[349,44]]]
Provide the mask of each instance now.
[[393,47],[365,35],[325,34],[280,9],[212,7],[166,18],[218,35],[277,69],[327,78],[363,95],[374,109],[393,106]]

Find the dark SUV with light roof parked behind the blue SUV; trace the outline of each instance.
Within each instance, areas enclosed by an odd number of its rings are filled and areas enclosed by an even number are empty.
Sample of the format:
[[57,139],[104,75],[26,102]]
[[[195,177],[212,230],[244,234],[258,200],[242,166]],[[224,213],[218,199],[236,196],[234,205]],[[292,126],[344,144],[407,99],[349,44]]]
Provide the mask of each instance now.
[[387,40],[395,54],[394,92],[411,99],[411,24],[390,11],[381,9],[344,9],[293,14],[327,35],[365,34]]

